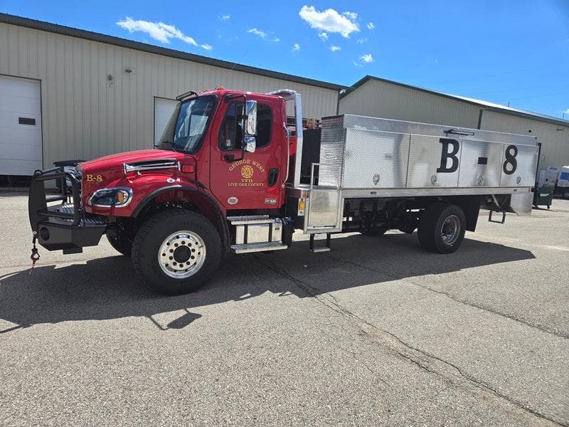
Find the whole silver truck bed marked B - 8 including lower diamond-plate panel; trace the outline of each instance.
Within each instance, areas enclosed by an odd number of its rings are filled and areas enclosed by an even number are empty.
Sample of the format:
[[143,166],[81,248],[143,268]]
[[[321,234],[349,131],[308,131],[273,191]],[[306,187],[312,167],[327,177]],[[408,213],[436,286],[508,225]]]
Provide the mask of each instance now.
[[339,230],[343,200],[353,197],[513,194],[512,204],[527,214],[537,162],[536,138],[527,135],[357,115],[324,117],[304,231]]

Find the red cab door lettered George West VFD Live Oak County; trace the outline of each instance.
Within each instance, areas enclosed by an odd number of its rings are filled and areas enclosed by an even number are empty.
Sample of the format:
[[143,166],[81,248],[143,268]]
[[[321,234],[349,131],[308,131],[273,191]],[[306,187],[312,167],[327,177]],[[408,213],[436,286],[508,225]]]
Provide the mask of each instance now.
[[211,135],[211,192],[225,209],[277,209],[282,205],[284,129],[280,102],[257,99],[255,152],[243,152],[243,97],[223,102]]

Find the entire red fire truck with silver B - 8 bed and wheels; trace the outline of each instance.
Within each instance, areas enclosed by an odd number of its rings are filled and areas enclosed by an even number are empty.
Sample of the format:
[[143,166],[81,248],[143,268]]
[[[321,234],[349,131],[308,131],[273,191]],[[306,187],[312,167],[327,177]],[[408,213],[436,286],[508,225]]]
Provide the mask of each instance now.
[[[498,222],[531,209],[533,137],[354,115],[303,129],[292,90],[178,100],[156,149],[33,175],[33,259],[36,241],[78,253],[106,234],[144,283],[178,294],[203,285],[226,253],[286,249],[295,230],[313,252],[328,251],[332,233],[418,229],[424,248],[450,253],[481,206],[501,212]],[[46,196],[50,180],[62,194]]]

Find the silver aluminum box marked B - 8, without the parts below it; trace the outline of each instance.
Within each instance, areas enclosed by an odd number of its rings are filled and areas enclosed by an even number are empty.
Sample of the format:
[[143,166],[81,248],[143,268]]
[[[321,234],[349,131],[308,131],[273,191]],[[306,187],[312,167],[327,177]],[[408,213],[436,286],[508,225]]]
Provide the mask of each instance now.
[[530,188],[537,157],[526,135],[340,115],[323,119],[319,186]]

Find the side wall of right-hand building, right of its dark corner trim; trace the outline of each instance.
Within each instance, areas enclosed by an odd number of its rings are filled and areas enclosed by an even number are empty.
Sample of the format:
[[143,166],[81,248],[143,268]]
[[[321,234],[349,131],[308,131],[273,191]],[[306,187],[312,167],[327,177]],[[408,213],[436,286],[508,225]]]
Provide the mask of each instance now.
[[[484,111],[480,128],[537,137],[538,142],[541,142],[539,169],[545,169],[548,166],[567,166],[569,164],[569,127],[506,115],[500,112]],[[531,132],[529,132],[530,130]],[[543,156],[545,156],[545,159],[543,159]]]

